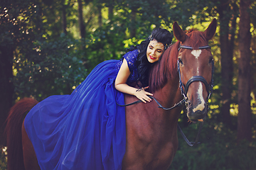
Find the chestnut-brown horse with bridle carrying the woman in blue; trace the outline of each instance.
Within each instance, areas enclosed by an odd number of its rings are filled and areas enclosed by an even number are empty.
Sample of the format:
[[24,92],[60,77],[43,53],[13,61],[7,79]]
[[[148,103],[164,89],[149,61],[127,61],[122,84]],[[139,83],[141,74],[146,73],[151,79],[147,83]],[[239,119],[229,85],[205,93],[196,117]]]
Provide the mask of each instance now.
[[[175,22],[174,35],[178,42],[164,52],[150,73],[149,87],[156,101],[169,108],[185,98],[188,118],[193,121],[206,118],[213,81],[213,57],[208,40],[215,35],[216,25],[214,19],[204,32],[185,33]],[[136,97],[125,95],[125,103],[134,101]],[[6,125],[9,170],[40,169],[23,125],[26,111],[36,103],[25,98],[11,108]],[[127,106],[127,146],[122,169],[168,169],[178,148],[180,113],[181,107],[164,110],[154,101]]]

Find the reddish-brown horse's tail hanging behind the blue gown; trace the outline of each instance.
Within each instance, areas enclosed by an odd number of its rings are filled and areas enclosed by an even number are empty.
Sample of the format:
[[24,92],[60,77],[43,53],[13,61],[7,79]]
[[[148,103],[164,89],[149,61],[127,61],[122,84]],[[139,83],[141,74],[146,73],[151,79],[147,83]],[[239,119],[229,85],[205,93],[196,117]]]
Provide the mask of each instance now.
[[9,170],[22,169],[22,167],[24,167],[21,127],[27,112],[37,103],[38,101],[33,98],[23,98],[11,107],[9,111],[5,129],[7,140],[7,167]]

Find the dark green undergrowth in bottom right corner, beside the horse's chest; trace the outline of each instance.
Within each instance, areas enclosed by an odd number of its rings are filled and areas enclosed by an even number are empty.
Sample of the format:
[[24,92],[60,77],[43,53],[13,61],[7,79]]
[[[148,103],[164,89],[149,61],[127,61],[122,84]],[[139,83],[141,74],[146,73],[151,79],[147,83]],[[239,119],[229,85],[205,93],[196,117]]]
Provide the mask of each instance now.
[[[255,169],[256,142],[236,143],[236,132],[228,130],[222,123],[210,122],[203,125],[200,142],[189,147],[178,134],[179,147],[170,170],[240,170]],[[197,125],[182,128],[188,139],[196,137]]]

